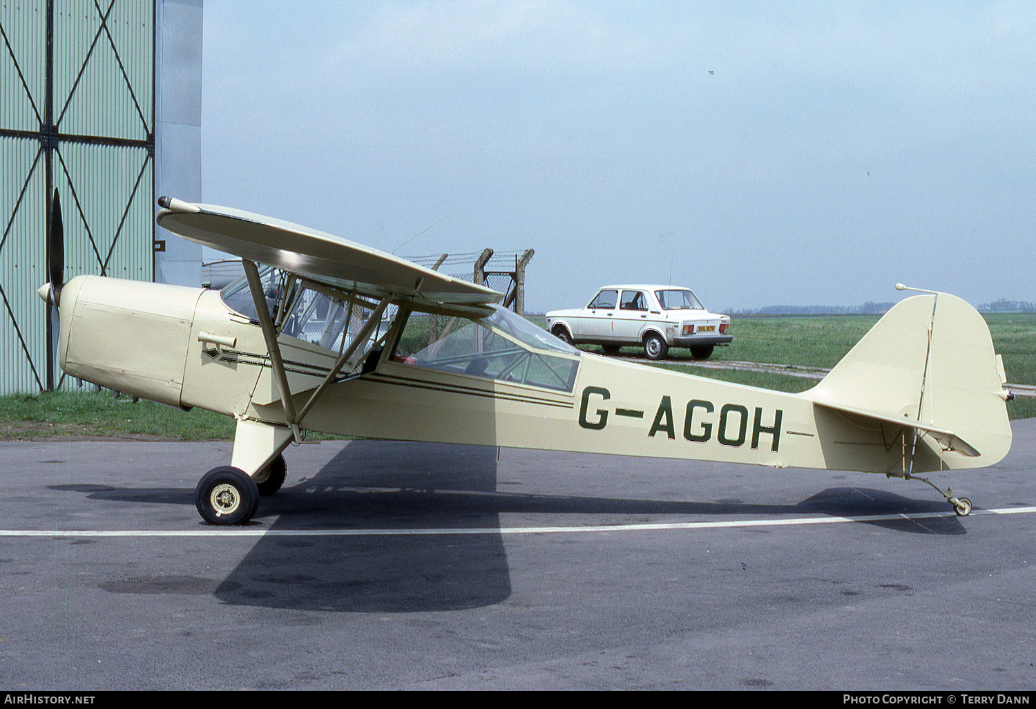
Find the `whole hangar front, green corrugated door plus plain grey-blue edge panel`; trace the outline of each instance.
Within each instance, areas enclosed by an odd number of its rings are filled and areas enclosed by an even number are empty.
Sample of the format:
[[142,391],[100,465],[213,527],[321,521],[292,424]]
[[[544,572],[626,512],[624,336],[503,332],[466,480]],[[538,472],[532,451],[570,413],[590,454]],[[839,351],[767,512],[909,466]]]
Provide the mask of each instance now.
[[55,192],[65,280],[200,283],[200,248],[154,214],[162,191],[200,198],[201,28],[202,0],[0,5],[0,394],[71,384],[35,292]]

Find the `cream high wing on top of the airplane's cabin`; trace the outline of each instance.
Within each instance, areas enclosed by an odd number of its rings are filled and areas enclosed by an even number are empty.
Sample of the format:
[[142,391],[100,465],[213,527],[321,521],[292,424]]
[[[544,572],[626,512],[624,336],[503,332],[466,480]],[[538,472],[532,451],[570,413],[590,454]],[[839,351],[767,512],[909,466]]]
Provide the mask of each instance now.
[[491,288],[290,222],[171,197],[159,204],[159,225],[189,240],[379,301],[478,306],[503,297]]

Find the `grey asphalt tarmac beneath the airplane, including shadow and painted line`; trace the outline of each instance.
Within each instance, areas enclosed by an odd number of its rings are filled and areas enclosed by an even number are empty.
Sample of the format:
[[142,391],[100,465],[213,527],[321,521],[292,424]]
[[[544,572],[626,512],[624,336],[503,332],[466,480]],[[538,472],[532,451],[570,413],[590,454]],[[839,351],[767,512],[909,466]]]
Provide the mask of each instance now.
[[0,690],[1036,686],[1036,419],[990,469],[859,473],[386,442],[0,444]]

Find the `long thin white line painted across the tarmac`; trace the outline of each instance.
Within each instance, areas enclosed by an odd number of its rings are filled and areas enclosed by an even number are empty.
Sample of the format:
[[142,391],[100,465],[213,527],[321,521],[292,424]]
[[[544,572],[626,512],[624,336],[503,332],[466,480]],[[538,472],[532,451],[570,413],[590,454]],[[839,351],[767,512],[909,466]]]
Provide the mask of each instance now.
[[[1007,507],[997,510],[973,510],[970,517],[987,514],[1030,514],[1036,507]],[[794,527],[797,524],[835,524],[901,519],[956,517],[954,512],[918,514],[876,514],[854,517],[782,517],[779,519],[731,519],[697,522],[650,522],[641,524],[586,524],[580,527],[472,527],[440,529],[367,529],[367,530],[276,530],[259,527],[202,527],[194,530],[0,530],[0,537],[415,537],[443,535],[513,534],[586,534],[600,532],[653,532],[668,530],[715,530],[745,527]]]

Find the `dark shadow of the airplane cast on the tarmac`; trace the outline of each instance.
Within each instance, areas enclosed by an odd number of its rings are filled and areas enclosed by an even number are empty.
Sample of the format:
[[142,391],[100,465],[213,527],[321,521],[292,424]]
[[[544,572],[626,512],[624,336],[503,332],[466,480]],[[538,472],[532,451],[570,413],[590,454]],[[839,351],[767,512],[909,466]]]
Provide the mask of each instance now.
[[[501,513],[555,515],[551,524],[595,523],[573,516],[869,516],[946,512],[942,501],[884,490],[832,487],[794,505],[741,500],[682,502],[498,492],[497,449],[442,444],[355,442],[312,478],[264,498],[254,523],[271,530],[489,530],[480,534],[279,536],[258,540],[215,591],[226,603],[352,613],[450,611],[491,605],[511,594]],[[61,485],[118,502],[194,505],[193,490]],[[953,516],[875,519],[887,529],[963,534]],[[495,533],[493,532],[495,531]]]

